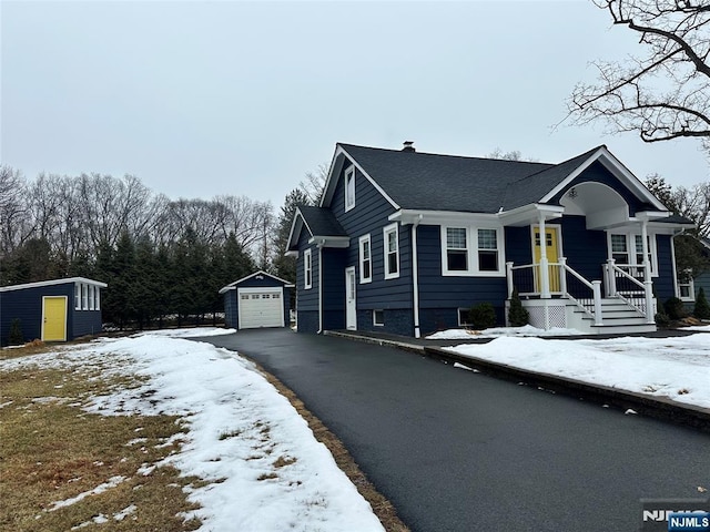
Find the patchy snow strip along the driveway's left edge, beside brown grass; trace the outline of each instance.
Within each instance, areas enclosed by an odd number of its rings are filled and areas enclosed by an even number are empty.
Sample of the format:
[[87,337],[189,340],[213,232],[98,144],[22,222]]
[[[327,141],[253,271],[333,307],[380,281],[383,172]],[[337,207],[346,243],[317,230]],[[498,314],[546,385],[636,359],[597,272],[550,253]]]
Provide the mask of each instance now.
[[[199,336],[205,330],[199,329]],[[182,449],[164,462],[213,481],[189,494],[202,505],[194,512],[203,520],[200,531],[384,530],[326,447],[253,364],[174,334],[102,339],[3,360],[0,370],[108,364],[104,375],[145,377],[139,388],[94,397],[84,408],[105,416],[183,417],[189,432],[181,436]],[[150,471],[146,467],[143,474]]]

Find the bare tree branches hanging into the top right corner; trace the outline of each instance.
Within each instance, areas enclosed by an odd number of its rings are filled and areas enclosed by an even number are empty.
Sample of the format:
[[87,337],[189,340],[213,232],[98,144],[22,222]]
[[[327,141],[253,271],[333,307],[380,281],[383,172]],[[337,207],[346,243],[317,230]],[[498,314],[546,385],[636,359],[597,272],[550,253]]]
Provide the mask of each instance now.
[[579,83],[568,117],[605,120],[643,142],[710,137],[710,6],[704,0],[594,0],[613,24],[639,34],[645,53],[625,63],[598,61],[597,83]]

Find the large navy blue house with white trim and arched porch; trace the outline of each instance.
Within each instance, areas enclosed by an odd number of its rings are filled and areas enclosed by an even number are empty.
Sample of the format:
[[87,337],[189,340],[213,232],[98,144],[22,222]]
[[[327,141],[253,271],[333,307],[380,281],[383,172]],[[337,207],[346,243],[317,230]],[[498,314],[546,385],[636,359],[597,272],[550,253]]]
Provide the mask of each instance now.
[[337,144],[288,239],[298,330],[419,337],[484,301],[503,324],[514,288],[541,328],[653,330],[688,225],[606,146],[546,164]]

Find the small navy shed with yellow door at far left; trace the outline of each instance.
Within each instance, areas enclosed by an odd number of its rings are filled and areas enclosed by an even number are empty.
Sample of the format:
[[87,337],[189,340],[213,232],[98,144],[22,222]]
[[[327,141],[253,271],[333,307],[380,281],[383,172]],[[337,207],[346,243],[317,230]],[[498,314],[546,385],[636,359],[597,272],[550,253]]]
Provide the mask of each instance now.
[[101,332],[105,283],[71,277],[0,287],[0,345],[18,320],[23,341],[67,341]]

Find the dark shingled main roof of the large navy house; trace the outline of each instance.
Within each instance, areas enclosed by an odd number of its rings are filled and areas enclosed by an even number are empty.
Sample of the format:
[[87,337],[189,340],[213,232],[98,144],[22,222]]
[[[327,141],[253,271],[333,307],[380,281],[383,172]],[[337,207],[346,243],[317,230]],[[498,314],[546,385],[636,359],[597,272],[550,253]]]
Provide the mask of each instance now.
[[469,213],[538,202],[597,150],[548,164],[339,145],[402,208]]

